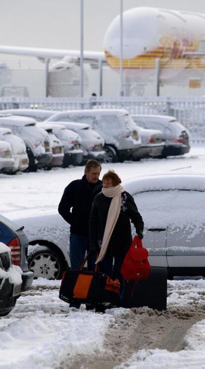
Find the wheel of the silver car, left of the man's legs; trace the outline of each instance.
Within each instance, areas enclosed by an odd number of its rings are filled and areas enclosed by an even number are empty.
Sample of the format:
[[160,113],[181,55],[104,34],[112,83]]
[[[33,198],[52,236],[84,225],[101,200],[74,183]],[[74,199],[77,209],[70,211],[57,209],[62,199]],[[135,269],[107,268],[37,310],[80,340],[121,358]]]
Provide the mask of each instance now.
[[64,271],[61,256],[47,246],[32,247],[28,254],[28,265],[35,279],[60,279]]

